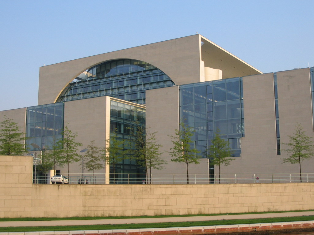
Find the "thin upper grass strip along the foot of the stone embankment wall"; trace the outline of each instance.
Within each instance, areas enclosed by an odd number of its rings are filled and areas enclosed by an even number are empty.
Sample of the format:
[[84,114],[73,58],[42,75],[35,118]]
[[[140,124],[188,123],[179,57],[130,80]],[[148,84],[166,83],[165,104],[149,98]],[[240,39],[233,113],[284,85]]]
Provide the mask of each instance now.
[[[272,212],[247,212],[247,213],[228,213],[228,215],[249,215],[249,214],[268,214],[268,213],[283,213],[283,212],[307,212],[314,210],[300,211],[272,211]],[[166,217],[190,217],[190,216],[219,216],[225,214],[197,214],[197,215],[157,215],[157,216],[119,216],[119,217],[23,217],[23,218],[0,218],[0,221],[50,221],[50,220],[103,220],[103,219],[137,219],[137,218],[166,218]]]

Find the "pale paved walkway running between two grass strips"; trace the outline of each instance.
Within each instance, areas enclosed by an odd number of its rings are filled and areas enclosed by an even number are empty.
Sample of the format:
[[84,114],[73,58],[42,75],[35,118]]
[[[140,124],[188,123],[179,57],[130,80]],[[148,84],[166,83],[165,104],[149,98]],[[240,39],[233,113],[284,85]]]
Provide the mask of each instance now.
[[219,216],[189,216],[165,218],[136,218],[136,219],[101,219],[101,220],[50,220],[50,221],[3,221],[0,227],[32,227],[32,226],[67,226],[67,225],[93,225],[93,224],[130,224],[130,223],[161,223],[161,222],[186,222],[208,221],[222,219],[257,219],[273,217],[295,217],[314,215],[309,212],[280,212],[266,214],[219,215]]

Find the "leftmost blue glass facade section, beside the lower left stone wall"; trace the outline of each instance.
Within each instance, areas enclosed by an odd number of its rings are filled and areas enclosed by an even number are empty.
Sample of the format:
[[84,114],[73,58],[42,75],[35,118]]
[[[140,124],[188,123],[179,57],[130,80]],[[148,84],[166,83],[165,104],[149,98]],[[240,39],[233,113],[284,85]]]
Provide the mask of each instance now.
[[37,144],[41,149],[50,150],[54,142],[62,138],[64,103],[38,105],[27,108],[26,114],[26,147]]

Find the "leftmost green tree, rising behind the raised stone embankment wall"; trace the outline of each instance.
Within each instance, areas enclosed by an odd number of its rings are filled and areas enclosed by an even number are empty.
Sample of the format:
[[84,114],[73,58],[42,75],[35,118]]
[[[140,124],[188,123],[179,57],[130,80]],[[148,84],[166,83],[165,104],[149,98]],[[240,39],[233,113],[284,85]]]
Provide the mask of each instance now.
[[19,132],[20,127],[13,119],[4,116],[0,122],[0,155],[21,156],[26,152],[24,141],[25,133]]

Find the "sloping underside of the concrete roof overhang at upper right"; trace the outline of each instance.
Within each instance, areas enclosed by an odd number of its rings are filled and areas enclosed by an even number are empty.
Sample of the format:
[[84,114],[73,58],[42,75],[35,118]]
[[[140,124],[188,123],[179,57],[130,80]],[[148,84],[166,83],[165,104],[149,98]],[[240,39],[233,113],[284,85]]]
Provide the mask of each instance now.
[[235,55],[201,36],[201,56],[205,67],[222,70],[222,78],[262,74]]

